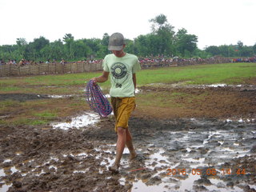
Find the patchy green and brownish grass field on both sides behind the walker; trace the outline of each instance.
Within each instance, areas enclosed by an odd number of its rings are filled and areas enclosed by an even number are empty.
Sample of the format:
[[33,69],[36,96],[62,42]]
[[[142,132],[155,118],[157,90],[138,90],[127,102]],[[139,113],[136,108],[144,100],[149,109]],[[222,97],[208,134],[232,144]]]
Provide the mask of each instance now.
[[[46,125],[60,118],[82,113],[89,110],[83,94],[86,81],[102,72],[83,74],[57,74],[26,76],[0,79],[0,94],[50,94],[50,95],[80,95],[73,98],[52,98],[27,100],[0,100],[0,125]],[[137,74],[139,86],[152,83],[214,84],[226,83],[256,84],[256,63],[229,63],[215,65],[178,66],[158,69],[141,70]],[[108,93],[110,81],[100,84]],[[202,102],[209,93],[190,95],[174,91],[138,94],[141,110],[166,108],[169,110],[184,110],[191,102]],[[177,103],[177,99],[185,102]],[[163,110],[162,110],[163,111]]]

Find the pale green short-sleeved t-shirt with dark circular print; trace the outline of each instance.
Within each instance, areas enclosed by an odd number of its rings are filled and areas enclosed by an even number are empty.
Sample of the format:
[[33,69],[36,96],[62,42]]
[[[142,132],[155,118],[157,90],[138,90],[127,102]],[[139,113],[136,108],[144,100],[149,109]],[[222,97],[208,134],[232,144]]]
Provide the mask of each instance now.
[[134,97],[133,74],[141,70],[137,56],[127,54],[122,58],[107,54],[103,60],[103,70],[110,72],[110,96]]

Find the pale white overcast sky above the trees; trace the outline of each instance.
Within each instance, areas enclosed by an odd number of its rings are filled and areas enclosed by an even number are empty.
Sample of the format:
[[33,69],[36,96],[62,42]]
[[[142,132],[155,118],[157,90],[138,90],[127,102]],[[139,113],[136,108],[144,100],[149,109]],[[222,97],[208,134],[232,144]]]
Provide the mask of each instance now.
[[151,18],[165,14],[174,31],[198,37],[198,48],[256,43],[256,0],[0,0],[0,45],[17,38],[54,42],[122,33],[150,34]]

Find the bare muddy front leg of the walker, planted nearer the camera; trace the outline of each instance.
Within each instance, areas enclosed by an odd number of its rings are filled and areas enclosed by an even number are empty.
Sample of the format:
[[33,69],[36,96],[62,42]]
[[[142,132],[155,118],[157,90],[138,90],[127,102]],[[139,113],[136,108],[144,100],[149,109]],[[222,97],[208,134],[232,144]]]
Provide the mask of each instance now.
[[115,157],[114,164],[109,167],[114,173],[118,172],[118,168],[120,166],[120,160],[122,158],[122,152],[126,146],[126,130],[122,127],[118,127],[118,142],[117,142],[117,154]]

